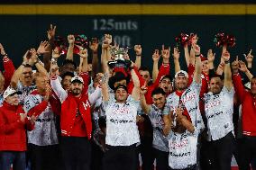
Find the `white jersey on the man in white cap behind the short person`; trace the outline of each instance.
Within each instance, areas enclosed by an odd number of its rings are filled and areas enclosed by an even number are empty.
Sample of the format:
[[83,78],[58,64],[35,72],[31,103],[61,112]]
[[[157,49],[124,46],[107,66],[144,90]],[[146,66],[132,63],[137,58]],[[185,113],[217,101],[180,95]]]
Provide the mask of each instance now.
[[194,80],[180,97],[175,92],[169,94],[167,98],[167,104],[164,109],[164,114],[169,114],[170,111],[174,111],[175,113],[179,104],[179,100],[181,100],[187,109],[192,124],[194,127],[197,127],[196,130],[202,131],[205,128],[205,125],[199,109],[200,90],[201,84],[197,84]]

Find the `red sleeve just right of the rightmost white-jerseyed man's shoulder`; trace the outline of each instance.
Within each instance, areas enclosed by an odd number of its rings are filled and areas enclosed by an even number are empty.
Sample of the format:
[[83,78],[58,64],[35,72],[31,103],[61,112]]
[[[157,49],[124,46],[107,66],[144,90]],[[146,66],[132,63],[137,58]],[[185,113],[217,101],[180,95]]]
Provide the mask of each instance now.
[[234,74],[233,76],[233,87],[235,93],[238,95],[239,100],[242,102],[245,94],[245,89],[242,85],[242,78],[239,74]]

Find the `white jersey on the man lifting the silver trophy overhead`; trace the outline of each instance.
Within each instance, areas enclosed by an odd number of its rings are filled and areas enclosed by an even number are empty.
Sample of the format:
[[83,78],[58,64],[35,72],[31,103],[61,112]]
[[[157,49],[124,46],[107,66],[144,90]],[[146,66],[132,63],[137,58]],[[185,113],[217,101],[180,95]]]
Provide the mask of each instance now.
[[131,146],[140,142],[136,125],[140,102],[129,100],[126,103],[104,102],[106,116],[105,144],[110,146]]

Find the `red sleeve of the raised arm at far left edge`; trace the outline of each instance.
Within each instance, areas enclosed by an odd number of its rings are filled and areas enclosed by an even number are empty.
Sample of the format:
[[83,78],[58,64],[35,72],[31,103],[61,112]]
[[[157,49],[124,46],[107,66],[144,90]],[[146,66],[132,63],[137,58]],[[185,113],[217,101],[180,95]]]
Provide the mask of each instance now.
[[4,61],[4,73],[3,76],[5,77],[5,85],[4,87],[7,88],[10,83],[11,83],[11,79],[12,76],[14,75],[14,71],[15,71],[15,67],[14,67],[14,63],[10,58],[3,58]]

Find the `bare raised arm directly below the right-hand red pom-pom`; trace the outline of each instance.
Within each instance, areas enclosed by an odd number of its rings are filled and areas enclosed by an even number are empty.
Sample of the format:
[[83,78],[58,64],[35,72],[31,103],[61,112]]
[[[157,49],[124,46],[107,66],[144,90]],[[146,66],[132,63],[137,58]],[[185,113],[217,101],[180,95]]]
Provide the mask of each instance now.
[[231,68],[230,68],[230,53],[226,50],[222,56],[224,58],[224,86],[228,89],[228,91],[231,90],[233,87],[232,83],[232,74],[231,74]]

